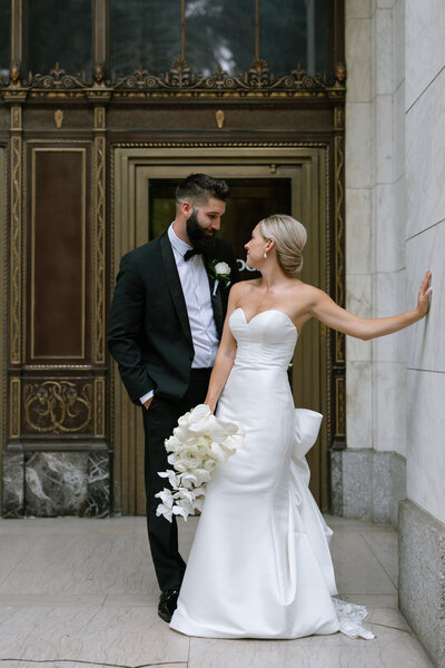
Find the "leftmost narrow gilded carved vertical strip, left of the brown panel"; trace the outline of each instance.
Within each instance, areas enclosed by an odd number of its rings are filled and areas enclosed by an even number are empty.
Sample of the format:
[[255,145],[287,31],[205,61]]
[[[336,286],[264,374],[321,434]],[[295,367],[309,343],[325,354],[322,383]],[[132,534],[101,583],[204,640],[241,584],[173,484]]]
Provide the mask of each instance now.
[[21,107],[11,108],[11,364],[21,355]]

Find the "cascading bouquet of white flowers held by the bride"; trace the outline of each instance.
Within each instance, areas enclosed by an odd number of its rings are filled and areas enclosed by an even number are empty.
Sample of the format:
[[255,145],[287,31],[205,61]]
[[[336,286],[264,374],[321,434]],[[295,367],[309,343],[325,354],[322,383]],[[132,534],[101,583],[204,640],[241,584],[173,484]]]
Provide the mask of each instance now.
[[169,522],[174,514],[187,517],[202,509],[205,484],[211,479],[210,471],[225,462],[243,442],[243,432],[235,422],[219,420],[206,404],[199,404],[179,418],[174,434],[165,445],[174,470],[158,472],[167,478],[171,489],[164,488],[155,494],[160,499],[156,514]]

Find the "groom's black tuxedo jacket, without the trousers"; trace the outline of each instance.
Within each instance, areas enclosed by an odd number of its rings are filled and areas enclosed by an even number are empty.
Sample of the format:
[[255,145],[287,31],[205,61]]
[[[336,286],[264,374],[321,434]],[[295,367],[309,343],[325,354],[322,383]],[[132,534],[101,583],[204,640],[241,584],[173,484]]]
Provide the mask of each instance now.
[[[204,262],[226,262],[230,281],[239,281],[234,250],[225,239]],[[209,278],[210,294],[214,281]],[[211,297],[219,337],[229,286],[218,285]],[[130,399],[154,390],[157,396],[180,400],[187,391],[194,344],[186,301],[167,233],[127,253],[120,262],[107,330],[108,347],[119,365]]]

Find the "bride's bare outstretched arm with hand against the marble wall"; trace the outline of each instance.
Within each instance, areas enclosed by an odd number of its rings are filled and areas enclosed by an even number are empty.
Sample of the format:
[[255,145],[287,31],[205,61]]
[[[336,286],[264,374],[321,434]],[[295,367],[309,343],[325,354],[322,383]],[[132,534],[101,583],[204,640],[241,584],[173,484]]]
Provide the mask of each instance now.
[[432,288],[428,287],[432,274],[426,272],[418,292],[417,306],[399,315],[389,317],[363,318],[338,306],[324,292],[316,291],[312,315],[333,330],[367,341],[385,334],[393,334],[422,320],[428,312]]

